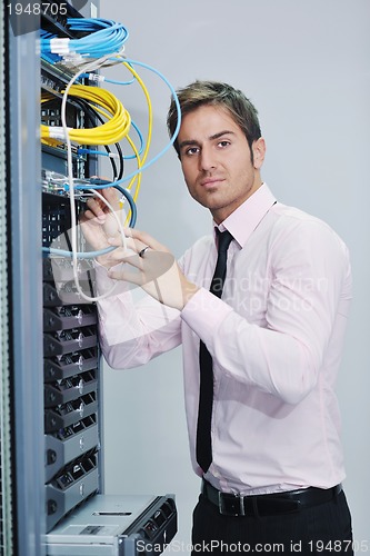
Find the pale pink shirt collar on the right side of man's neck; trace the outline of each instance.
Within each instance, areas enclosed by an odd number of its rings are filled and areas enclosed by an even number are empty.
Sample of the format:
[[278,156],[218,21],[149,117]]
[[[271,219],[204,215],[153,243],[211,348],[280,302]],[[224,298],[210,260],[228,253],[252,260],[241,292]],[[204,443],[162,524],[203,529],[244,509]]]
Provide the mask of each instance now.
[[274,196],[263,182],[253,195],[220,224],[220,231],[229,230],[242,247],[274,202]]

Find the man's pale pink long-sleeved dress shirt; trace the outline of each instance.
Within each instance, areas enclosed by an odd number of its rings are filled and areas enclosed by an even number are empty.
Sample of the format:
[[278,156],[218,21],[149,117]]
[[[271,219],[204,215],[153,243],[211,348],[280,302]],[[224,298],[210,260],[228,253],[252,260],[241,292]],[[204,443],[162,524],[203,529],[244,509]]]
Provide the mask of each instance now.
[[[199,338],[213,358],[213,461],[224,492],[274,493],[344,478],[334,393],[351,299],[349,254],[322,220],[276,202],[263,183],[220,226],[233,240],[222,299],[208,291],[217,249],[199,239],[179,264],[200,289],[180,312],[123,290],[99,301],[101,347],[113,368],[182,342],[194,471]],[[111,288],[97,268],[99,292]]]

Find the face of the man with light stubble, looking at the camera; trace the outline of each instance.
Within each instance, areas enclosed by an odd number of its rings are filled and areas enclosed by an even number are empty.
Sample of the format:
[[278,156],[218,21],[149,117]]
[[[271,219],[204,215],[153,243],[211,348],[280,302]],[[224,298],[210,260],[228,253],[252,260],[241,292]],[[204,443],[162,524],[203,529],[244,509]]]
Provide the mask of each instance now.
[[253,162],[244,133],[221,107],[202,106],[186,115],[178,137],[190,195],[224,220],[261,185],[262,138],[253,142]]

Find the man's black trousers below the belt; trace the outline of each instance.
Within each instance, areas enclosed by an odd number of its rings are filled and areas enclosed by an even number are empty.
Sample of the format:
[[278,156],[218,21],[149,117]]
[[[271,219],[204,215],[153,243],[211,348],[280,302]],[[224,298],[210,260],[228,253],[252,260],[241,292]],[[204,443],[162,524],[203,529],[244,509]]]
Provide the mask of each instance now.
[[193,512],[192,556],[234,553],[353,555],[344,493],[314,507],[263,517],[220,515],[201,494]]

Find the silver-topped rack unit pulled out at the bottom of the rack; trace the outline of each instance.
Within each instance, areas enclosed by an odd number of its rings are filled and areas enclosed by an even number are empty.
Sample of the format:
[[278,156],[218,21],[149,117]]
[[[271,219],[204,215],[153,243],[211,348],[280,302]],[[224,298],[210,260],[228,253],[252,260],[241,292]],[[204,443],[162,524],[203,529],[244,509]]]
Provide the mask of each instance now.
[[48,556],[159,554],[176,532],[171,496],[98,494],[48,535]]

